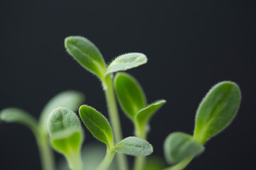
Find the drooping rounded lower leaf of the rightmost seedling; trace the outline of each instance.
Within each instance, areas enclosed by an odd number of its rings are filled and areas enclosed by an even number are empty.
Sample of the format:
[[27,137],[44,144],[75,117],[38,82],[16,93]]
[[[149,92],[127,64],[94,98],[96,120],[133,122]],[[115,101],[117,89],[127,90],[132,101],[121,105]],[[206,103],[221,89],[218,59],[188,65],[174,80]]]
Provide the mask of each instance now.
[[203,145],[183,132],[173,132],[164,141],[164,156],[169,164],[176,164],[188,157],[197,156],[203,151]]

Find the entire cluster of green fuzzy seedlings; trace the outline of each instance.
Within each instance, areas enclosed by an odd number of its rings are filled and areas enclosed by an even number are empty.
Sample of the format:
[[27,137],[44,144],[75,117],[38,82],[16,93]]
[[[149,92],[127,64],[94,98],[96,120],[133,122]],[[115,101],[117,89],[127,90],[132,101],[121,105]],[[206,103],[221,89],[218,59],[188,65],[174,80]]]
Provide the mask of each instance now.
[[[0,120],[21,123],[31,129],[38,143],[44,170],[55,169],[50,146],[65,156],[70,169],[82,170],[81,149],[85,137],[80,120],[75,114],[75,111],[78,111],[87,130],[106,145],[105,157],[97,166],[97,170],[109,169],[115,154],[118,169],[129,169],[125,157],[127,154],[135,157],[134,170],[145,170],[146,156],[153,152],[153,147],[146,140],[149,122],[166,101],[161,99],[147,103],[142,86],[124,71],[145,64],[146,56],[131,52],[106,64],[100,50],[90,40],[80,36],[65,38],[65,48],[82,67],[100,79],[105,91],[110,123],[95,108],[82,105],[85,96],[78,91],[65,91],[51,99],[38,122],[18,108],[3,109],[0,112]],[[117,101],[134,125],[132,137],[122,136]],[[238,112],[240,101],[240,89],[234,82],[222,81],[213,86],[198,107],[193,135],[172,132],[166,137],[164,156],[166,162],[172,166],[166,167],[165,170],[185,169],[194,157],[205,150],[204,144],[211,137],[230,125]]]

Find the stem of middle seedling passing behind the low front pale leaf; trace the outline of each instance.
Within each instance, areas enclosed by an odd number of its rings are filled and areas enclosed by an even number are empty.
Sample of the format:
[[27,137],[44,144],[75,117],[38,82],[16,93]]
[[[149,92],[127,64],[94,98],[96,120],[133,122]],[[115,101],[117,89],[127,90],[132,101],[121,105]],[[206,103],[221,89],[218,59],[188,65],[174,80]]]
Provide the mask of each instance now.
[[[139,125],[135,123],[135,135],[146,140],[146,125]],[[146,162],[146,157],[135,157],[134,170],[142,170]]]

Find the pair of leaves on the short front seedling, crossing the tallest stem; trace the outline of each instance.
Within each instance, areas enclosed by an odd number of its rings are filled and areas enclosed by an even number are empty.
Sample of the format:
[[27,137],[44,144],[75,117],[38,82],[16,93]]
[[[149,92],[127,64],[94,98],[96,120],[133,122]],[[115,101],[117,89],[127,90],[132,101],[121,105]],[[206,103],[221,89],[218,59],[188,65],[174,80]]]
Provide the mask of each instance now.
[[81,106],[79,109],[80,118],[86,128],[98,140],[104,142],[109,149],[116,152],[133,156],[146,156],[153,152],[153,147],[139,137],[127,137],[114,145],[110,123],[101,113],[90,106]]

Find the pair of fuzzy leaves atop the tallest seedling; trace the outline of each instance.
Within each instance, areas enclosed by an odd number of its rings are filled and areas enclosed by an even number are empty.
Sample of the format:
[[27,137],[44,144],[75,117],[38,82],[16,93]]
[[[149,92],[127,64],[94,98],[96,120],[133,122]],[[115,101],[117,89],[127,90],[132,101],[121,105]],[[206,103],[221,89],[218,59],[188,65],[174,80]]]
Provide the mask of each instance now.
[[100,50],[90,40],[81,36],[65,38],[65,48],[82,67],[96,74],[102,81],[107,74],[132,69],[147,61],[144,54],[132,52],[120,55],[107,67]]

